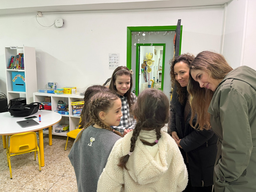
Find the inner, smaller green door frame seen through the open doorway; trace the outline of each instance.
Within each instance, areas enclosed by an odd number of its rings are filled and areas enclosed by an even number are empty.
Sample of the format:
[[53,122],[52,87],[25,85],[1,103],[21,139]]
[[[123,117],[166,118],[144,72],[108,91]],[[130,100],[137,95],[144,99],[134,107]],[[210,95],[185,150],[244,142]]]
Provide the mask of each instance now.
[[[139,61],[139,51],[138,48],[139,46],[163,46],[163,62],[162,62],[162,79],[161,79],[161,90],[163,91],[164,88],[164,74],[165,74],[165,43],[137,43],[136,44],[136,77],[135,77],[135,90],[136,90],[136,95],[138,94],[138,87],[139,87],[139,74],[140,74],[140,61]],[[128,67],[127,67],[128,68]]]

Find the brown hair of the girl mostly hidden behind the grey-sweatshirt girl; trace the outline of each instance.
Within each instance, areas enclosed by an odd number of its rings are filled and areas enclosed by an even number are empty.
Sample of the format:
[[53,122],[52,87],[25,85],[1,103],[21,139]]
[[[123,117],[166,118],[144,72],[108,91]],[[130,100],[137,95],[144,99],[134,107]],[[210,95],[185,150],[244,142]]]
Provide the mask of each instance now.
[[84,107],[81,113],[81,122],[79,123],[79,127],[83,128],[89,121],[90,121],[90,115],[89,115],[89,103],[91,100],[91,97],[98,92],[106,91],[109,92],[109,88],[101,86],[101,85],[92,85],[86,89],[84,92]]

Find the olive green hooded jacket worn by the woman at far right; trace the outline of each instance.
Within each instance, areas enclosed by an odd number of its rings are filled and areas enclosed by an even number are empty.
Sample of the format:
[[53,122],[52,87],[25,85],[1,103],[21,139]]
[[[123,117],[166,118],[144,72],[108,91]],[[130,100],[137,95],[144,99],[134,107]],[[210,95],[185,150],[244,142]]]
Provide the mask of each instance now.
[[256,71],[229,72],[214,92],[208,112],[219,137],[215,192],[256,191]]

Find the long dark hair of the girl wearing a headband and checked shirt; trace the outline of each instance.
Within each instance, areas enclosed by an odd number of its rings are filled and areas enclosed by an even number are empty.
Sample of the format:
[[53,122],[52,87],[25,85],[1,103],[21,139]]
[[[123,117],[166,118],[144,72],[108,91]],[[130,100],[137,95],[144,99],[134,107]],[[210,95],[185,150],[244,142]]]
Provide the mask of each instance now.
[[132,89],[132,73],[130,72],[130,70],[125,67],[125,66],[119,66],[117,67],[113,74],[112,74],[112,77],[111,77],[111,82],[110,82],[110,85],[109,85],[109,89],[113,92],[117,92],[116,90],[116,87],[114,85],[115,83],[115,80],[116,80],[116,76],[122,76],[122,75],[127,75],[127,76],[130,76],[131,77],[131,80],[130,80],[130,89],[125,93],[125,96],[127,97],[127,101],[128,101],[128,104],[129,106],[131,107],[131,104],[133,104],[135,101],[133,101],[131,99],[131,89]]

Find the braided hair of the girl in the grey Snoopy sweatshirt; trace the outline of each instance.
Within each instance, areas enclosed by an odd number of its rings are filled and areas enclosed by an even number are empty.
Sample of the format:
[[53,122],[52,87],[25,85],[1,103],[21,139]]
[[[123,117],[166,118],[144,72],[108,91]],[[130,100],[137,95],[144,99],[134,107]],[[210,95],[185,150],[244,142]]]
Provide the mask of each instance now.
[[83,127],[83,129],[79,132],[77,135],[76,142],[80,139],[83,130],[90,125],[97,124],[103,129],[110,130],[114,132],[115,134],[123,137],[119,131],[116,131],[112,129],[111,127],[105,125],[102,123],[99,113],[101,111],[108,112],[109,109],[111,109],[114,106],[114,101],[120,99],[117,95],[110,93],[110,92],[98,92],[94,94],[90,100],[89,104],[89,115],[90,115],[90,121]]

